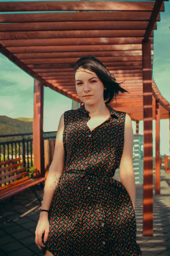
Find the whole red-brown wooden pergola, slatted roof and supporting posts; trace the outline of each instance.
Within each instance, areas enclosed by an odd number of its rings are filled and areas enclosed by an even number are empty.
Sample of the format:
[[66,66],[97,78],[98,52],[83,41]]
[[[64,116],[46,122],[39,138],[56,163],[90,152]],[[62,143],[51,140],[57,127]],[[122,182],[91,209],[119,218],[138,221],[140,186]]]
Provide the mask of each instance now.
[[110,105],[136,121],[136,132],[144,121],[143,235],[152,236],[152,120],[155,192],[160,194],[160,119],[170,117],[170,103],[152,78],[153,30],[164,11],[163,0],[0,2],[0,11],[0,52],[35,79],[33,142],[35,167],[42,176],[44,86],[81,103],[73,68],[86,55],[101,60],[118,82],[125,80],[121,86],[130,94],[118,95],[117,104]]

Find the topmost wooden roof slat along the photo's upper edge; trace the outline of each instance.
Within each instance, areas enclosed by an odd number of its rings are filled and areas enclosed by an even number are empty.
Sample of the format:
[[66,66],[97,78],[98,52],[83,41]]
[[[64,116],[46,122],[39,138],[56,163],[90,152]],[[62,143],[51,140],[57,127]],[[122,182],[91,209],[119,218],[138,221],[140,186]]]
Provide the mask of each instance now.
[[[152,11],[154,2],[138,1],[28,1],[0,2],[3,11]],[[164,10],[162,7],[161,11]]]

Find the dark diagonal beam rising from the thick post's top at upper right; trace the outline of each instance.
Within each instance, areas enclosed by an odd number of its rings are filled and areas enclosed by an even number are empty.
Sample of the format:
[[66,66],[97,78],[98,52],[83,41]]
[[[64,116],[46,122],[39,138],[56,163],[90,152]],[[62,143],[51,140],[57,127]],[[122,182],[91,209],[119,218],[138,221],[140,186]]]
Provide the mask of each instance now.
[[158,13],[160,12],[161,8],[164,9],[163,0],[156,0],[154,7],[153,7],[153,11],[150,15],[150,20],[149,20],[145,35],[144,35],[145,42],[147,42],[149,40],[149,36],[152,32],[153,27],[155,26],[156,18],[158,16]]

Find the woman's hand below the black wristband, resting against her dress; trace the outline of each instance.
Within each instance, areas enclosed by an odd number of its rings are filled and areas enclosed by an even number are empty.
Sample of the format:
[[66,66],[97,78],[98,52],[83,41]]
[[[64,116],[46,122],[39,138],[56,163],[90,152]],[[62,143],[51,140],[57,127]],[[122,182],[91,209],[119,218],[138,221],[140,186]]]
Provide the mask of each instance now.
[[38,224],[35,230],[35,244],[37,246],[45,247],[42,242],[42,236],[44,233],[44,243],[48,240],[49,230],[50,230],[50,223],[48,219],[48,215],[40,213],[40,217],[38,220]]

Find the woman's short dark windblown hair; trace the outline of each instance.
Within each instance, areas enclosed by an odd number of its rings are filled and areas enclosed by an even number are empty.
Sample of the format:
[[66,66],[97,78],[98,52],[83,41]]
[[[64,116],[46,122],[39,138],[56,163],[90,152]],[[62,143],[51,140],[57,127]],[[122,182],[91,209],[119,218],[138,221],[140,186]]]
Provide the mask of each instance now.
[[84,56],[77,60],[74,67],[74,80],[76,71],[79,68],[88,69],[94,72],[100,78],[104,87],[106,88],[103,95],[104,101],[106,100],[106,103],[114,101],[114,99],[116,99],[116,95],[119,94],[119,92],[129,93],[120,87],[120,83],[116,82],[114,75],[108,71],[106,66],[92,55]]

